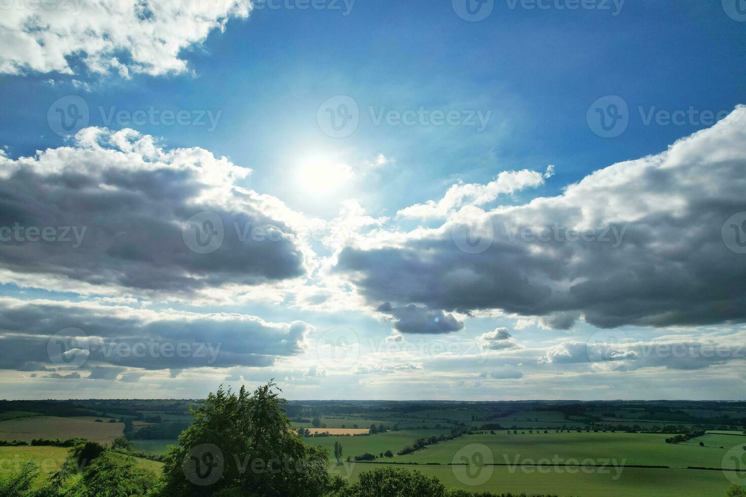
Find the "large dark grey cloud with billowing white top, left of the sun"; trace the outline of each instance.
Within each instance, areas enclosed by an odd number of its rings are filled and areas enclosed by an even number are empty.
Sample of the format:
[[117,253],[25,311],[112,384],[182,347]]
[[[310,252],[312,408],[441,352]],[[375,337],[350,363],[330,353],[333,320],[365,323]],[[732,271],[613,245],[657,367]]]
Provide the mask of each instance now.
[[126,129],[0,156],[0,282],[195,302],[304,276],[296,216],[249,172]]

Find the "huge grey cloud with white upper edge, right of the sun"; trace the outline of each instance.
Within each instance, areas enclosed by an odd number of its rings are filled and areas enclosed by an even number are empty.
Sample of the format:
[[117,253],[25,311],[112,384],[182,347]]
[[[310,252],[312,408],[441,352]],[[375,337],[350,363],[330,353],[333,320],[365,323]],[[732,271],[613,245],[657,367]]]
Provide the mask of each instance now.
[[371,306],[501,309],[560,329],[580,315],[601,328],[743,321],[743,241],[727,223],[746,212],[744,143],[738,107],[556,197],[489,212],[464,206],[437,229],[345,247],[334,270]]

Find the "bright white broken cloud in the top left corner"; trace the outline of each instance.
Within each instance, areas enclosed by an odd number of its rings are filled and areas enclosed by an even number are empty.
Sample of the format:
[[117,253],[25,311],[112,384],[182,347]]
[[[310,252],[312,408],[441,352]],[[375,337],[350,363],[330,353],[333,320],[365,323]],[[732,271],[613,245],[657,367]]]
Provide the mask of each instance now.
[[4,1],[0,73],[185,72],[181,51],[250,9],[249,0]]

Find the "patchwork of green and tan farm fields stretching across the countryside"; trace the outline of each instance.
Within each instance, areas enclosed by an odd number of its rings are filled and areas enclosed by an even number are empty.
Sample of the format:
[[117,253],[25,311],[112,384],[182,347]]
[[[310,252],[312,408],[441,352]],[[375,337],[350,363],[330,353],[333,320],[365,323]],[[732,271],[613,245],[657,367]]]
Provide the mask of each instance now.
[[[120,406],[112,404],[97,405],[95,409],[89,409],[90,412],[81,410],[75,417],[4,411],[0,413],[0,440],[85,437],[99,443],[111,443],[115,437],[122,436],[125,426],[119,422],[122,417],[133,420],[137,432],[143,425],[161,427],[176,420],[191,419],[185,411],[189,404],[178,405],[178,401],[169,401],[153,406],[143,401],[133,405],[142,410],[122,413],[121,417],[114,414],[117,412],[115,408]],[[733,415],[736,411],[665,411],[660,420],[640,419],[650,417],[650,411],[633,408],[596,409],[585,414],[531,408],[503,411],[433,408],[398,413],[353,411],[348,414],[310,411],[295,416],[292,425],[308,428],[311,433],[329,432],[329,436],[304,437],[304,442],[327,449],[330,471],[353,481],[363,471],[395,464],[395,467],[436,476],[448,487],[470,491],[574,497],[709,497],[723,496],[733,481],[746,485],[746,435],[739,426],[727,422],[727,417],[718,417],[724,412]],[[109,414],[104,415],[106,413]],[[591,416],[598,423],[614,420],[620,425],[634,424],[638,426],[636,429],[650,429],[662,425],[669,418],[686,419],[694,414],[701,414],[703,420],[718,422],[712,423],[703,436],[675,444],[665,443],[671,437],[670,433],[627,433],[628,428],[602,431],[597,426],[599,431],[556,431],[561,426],[582,428],[590,425],[586,420],[592,419]],[[313,428],[313,424],[324,427]],[[695,423],[688,420],[678,426],[692,424]],[[367,434],[371,425],[384,425],[387,431]],[[492,431],[497,425],[504,428]],[[514,425],[519,428],[510,428]],[[398,428],[396,431],[392,430],[394,426]],[[639,428],[641,426],[644,428]],[[471,434],[431,443],[430,437],[448,437],[451,430],[463,433],[468,427],[472,429]],[[428,444],[406,455],[397,455],[418,439],[427,440]],[[156,455],[165,453],[169,445],[178,445],[175,438],[135,439],[132,442],[136,449]],[[342,445],[342,464],[339,466],[334,464],[336,442]],[[391,457],[383,455],[387,451],[392,452]],[[34,459],[42,469],[37,478],[38,485],[60,466],[67,453],[68,449],[60,447],[0,447],[0,478],[20,469],[26,460]],[[354,462],[356,456],[366,453],[375,459]],[[347,462],[348,458],[353,461]],[[161,463],[146,459],[137,459],[137,464],[156,473],[162,467]]]

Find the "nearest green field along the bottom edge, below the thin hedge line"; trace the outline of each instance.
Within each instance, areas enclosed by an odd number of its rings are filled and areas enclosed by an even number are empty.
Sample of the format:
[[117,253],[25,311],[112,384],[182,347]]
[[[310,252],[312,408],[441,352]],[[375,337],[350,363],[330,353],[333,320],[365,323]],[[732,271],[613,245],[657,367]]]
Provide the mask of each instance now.
[[[354,464],[351,467],[351,480],[357,481],[361,472],[369,471],[376,466],[380,465]],[[524,473],[520,469],[511,471],[505,466],[492,466],[492,474],[489,475],[486,483],[469,485],[457,478],[454,468],[458,466],[407,465],[396,467],[416,469],[425,475],[436,476],[446,487],[493,493],[512,492],[518,495],[542,493],[561,497],[717,497],[723,496],[727,487],[730,486],[730,481],[723,473],[696,469],[624,468],[620,478],[614,480],[612,479],[614,472],[588,474],[580,471],[577,474],[567,472],[542,474],[536,471]],[[333,471],[344,477],[346,469],[345,466],[337,466]],[[489,469],[486,470],[489,471]]]

